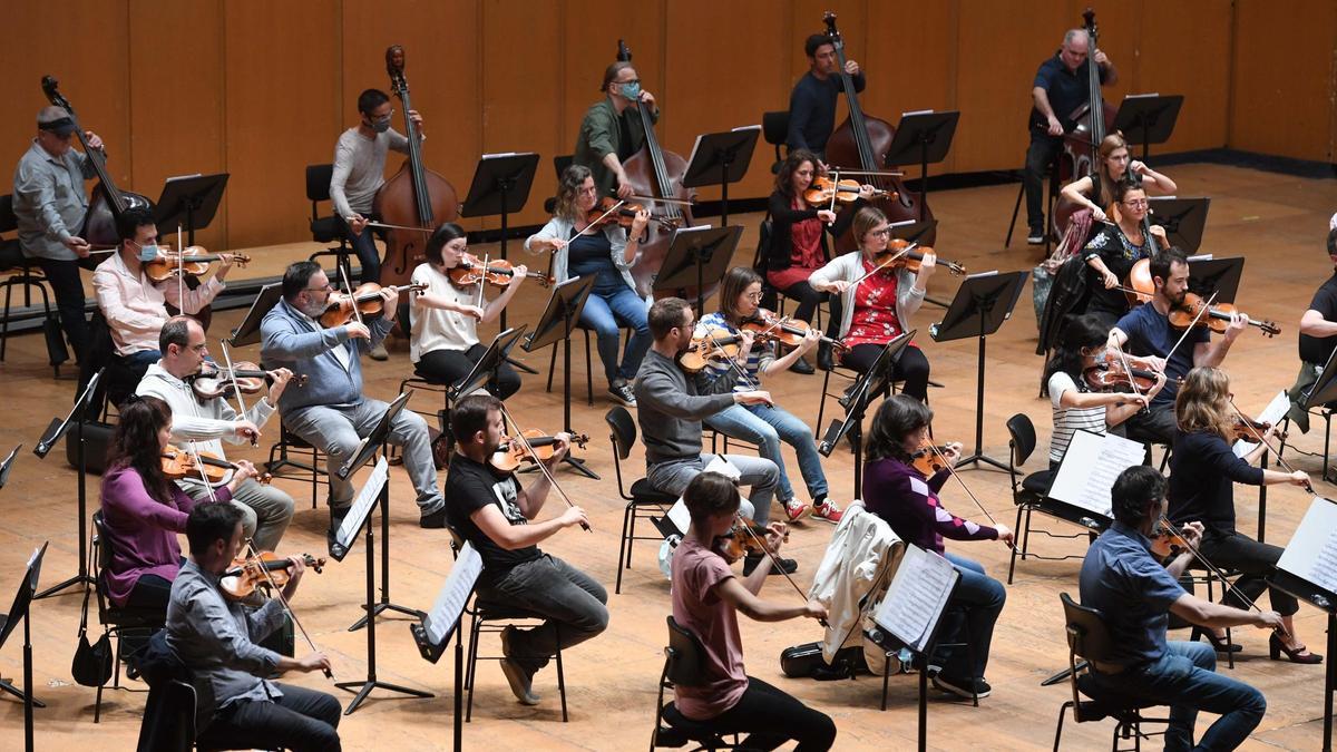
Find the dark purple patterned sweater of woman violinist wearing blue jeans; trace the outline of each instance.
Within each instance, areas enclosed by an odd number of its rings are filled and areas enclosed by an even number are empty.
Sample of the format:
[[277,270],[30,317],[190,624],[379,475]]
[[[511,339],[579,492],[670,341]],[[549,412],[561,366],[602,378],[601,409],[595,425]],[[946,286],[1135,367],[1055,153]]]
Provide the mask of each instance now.
[[951,472],[924,478],[898,459],[882,458],[864,466],[864,506],[892,526],[896,535],[920,549],[943,554],[943,538],[992,541],[997,530],[961,519],[943,508],[937,491]]

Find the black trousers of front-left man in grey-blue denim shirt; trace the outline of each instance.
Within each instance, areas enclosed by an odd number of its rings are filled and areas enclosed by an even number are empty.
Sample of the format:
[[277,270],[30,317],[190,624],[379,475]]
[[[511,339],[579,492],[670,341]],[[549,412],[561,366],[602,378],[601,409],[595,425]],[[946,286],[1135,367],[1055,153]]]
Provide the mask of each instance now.
[[338,752],[342,715],[332,694],[279,684],[282,697],[225,708],[197,737],[201,748]]

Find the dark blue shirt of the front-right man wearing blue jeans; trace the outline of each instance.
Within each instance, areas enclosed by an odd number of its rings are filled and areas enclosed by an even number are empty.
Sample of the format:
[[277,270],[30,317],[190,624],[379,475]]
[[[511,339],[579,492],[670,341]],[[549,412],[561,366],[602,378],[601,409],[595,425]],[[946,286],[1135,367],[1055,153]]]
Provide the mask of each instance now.
[[1110,628],[1110,662],[1135,666],[1166,652],[1170,605],[1185,594],[1151,555],[1151,541],[1115,522],[1087,549],[1080,575],[1082,605],[1098,609]]

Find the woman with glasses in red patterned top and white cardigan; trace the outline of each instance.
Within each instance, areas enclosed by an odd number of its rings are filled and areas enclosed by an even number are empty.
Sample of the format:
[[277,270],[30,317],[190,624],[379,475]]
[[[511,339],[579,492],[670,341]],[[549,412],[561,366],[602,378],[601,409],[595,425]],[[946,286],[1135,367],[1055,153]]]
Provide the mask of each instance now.
[[[841,363],[862,373],[872,368],[888,343],[909,329],[910,317],[924,305],[937,257],[925,252],[919,273],[896,265],[873,272],[888,260],[885,252],[892,227],[886,214],[865,206],[854,215],[850,229],[858,240],[858,253],[846,253],[813,272],[808,284],[817,292],[841,296],[840,332],[846,348]],[[920,401],[928,397],[928,359],[913,343],[901,351],[893,377],[905,383],[906,395]]]

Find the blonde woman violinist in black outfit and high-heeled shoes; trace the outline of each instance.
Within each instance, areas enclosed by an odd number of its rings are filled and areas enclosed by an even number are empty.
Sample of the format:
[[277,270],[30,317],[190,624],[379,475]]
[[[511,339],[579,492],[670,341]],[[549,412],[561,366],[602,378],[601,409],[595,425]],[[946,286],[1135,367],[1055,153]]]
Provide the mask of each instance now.
[[[1234,484],[1270,486],[1290,483],[1309,487],[1309,475],[1301,471],[1280,472],[1254,467],[1266,450],[1259,439],[1271,439],[1270,431],[1246,434],[1245,440],[1257,443],[1251,452],[1239,458],[1231,451],[1235,431],[1231,428],[1239,413],[1231,403],[1230,379],[1219,368],[1194,368],[1185,379],[1175,397],[1179,428],[1175,431],[1174,454],[1170,455],[1170,512],[1177,525],[1201,522],[1202,543],[1198,550],[1205,559],[1221,567],[1241,571],[1222,602],[1246,607],[1267,589],[1266,578],[1275,571],[1282,549],[1259,543],[1235,529]],[[1317,664],[1320,657],[1310,653],[1296,638],[1293,616],[1300,610],[1296,598],[1275,587],[1267,589],[1271,607],[1281,614],[1284,633],[1273,633],[1269,640],[1271,660],[1286,658],[1297,664]],[[1247,597],[1242,601],[1239,595]],[[1226,648],[1225,638],[1207,633],[1217,652]]]

